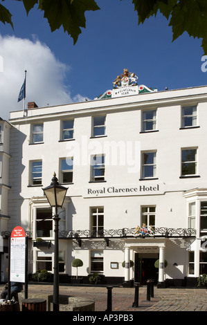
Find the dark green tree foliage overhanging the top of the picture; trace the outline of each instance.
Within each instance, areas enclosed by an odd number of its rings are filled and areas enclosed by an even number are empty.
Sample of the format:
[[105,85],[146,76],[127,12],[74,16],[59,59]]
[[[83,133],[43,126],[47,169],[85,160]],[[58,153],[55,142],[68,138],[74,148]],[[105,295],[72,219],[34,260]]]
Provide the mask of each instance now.
[[[4,0],[2,0],[4,1]],[[35,5],[44,11],[51,31],[61,26],[68,32],[75,44],[81,33],[80,28],[86,27],[85,12],[99,10],[95,0],[15,0],[22,1],[26,12]],[[120,0],[124,1],[124,0]],[[138,24],[158,12],[168,19],[172,26],[172,41],[188,32],[192,37],[202,39],[204,54],[207,54],[207,1],[206,0],[130,0],[138,14]],[[0,21],[12,24],[12,15],[5,6],[0,4]]]

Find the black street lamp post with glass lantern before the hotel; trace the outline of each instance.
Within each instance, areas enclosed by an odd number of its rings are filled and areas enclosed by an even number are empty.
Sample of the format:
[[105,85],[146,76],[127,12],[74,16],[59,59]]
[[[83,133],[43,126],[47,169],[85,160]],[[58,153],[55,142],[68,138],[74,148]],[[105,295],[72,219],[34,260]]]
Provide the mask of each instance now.
[[67,188],[58,183],[56,174],[54,173],[51,185],[43,189],[48,203],[51,207],[55,207],[55,257],[54,257],[54,281],[53,281],[53,311],[59,311],[59,245],[58,245],[58,233],[59,233],[59,221],[60,218],[57,214],[57,207],[62,207],[64,198],[66,196]]

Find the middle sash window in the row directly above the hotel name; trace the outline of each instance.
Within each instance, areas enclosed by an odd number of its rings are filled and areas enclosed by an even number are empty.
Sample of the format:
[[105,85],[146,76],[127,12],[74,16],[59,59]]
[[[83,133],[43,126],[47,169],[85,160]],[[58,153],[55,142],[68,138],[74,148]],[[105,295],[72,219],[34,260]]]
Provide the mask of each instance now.
[[93,156],[91,164],[91,180],[93,182],[105,180],[105,155]]

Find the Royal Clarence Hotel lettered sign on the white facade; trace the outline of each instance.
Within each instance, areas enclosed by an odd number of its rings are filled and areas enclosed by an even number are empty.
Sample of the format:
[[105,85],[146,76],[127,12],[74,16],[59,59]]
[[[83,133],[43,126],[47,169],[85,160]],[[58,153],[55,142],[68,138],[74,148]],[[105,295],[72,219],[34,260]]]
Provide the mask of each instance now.
[[109,185],[102,187],[87,187],[85,189],[84,197],[97,196],[140,196],[147,194],[163,194],[163,184],[149,184],[149,185]]

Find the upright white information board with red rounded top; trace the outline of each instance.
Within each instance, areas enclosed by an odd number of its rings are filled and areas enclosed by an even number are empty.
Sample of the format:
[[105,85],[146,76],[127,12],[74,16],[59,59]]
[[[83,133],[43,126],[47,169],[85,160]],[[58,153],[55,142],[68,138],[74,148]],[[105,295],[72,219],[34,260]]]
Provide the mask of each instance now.
[[17,226],[10,237],[10,281],[25,282],[25,251],[25,232]]

